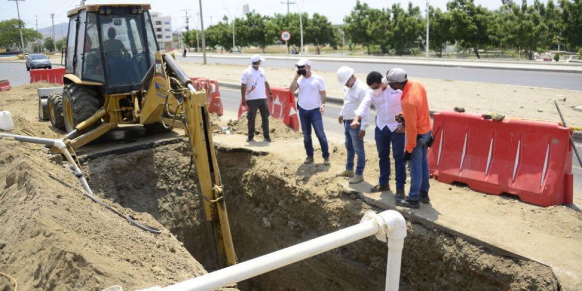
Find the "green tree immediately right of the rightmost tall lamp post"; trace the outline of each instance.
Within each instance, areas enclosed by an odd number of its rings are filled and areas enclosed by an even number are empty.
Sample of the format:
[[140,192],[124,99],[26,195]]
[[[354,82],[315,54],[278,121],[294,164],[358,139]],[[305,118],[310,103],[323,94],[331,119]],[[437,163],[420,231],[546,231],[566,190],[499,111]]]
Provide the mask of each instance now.
[[432,6],[430,6],[429,11],[428,21],[430,25],[428,26],[428,34],[430,40],[428,41],[428,48],[432,49],[441,58],[446,42],[453,40],[450,36],[450,13],[442,12],[439,8],[435,10]]

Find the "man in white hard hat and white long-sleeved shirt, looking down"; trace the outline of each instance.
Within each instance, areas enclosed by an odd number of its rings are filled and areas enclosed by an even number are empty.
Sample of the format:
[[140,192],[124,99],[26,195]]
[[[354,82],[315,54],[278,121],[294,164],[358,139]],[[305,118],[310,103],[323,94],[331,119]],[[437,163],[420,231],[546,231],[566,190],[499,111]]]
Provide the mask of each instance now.
[[[368,86],[365,86],[354,76],[354,69],[342,66],[337,72],[338,83],[344,87],[343,107],[339,112],[338,122],[343,125],[346,136],[347,161],[345,171],[336,173],[338,177],[351,177],[350,184],[360,183],[364,180],[365,152],[364,139],[360,139],[360,131],[365,133],[365,127],[368,126],[368,115],[364,115],[360,126],[350,127],[356,117],[356,109],[367,94]],[[354,157],[358,156],[356,173],[354,175]]]

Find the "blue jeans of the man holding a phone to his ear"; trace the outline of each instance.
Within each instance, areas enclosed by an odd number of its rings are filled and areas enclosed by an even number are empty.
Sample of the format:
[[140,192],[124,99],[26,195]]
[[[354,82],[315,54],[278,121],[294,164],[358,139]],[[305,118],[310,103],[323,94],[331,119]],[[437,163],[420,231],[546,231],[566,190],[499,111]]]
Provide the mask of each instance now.
[[329,157],[329,147],[327,137],[324,132],[324,120],[321,117],[319,108],[306,110],[299,105],[299,119],[301,120],[301,131],[303,132],[303,145],[308,157],[313,157],[313,141],[311,140],[311,126],[315,131],[315,136],[320,141],[321,154],[324,158]]

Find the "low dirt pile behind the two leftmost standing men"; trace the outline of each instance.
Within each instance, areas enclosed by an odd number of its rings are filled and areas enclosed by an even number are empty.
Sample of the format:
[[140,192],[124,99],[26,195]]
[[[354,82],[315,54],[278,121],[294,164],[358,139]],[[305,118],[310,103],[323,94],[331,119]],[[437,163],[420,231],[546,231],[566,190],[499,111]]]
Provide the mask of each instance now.
[[[249,133],[249,120],[246,114],[240,116],[239,119],[228,120],[228,130],[230,133],[247,135]],[[261,128],[261,115],[257,113],[257,118],[255,119],[255,136],[262,135]],[[277,140],[287,140],[287,139],[299,139],[303,137],[301,132],[296,132],[289,126],[285,125],[281,119],[272,118],[269,116],[269,136],[272,139]],[[225,131],[222,132],[226,133]]]

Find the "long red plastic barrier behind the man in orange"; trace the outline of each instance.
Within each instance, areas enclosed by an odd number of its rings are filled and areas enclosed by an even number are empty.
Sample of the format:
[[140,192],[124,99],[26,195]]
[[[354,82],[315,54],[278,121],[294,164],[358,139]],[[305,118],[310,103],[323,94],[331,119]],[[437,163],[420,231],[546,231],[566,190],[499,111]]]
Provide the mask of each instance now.
[[468,113],[434,115],[430,172],[489,194],[514,194],[541,206],[572,204],[571,130],[555,122],[496,122]]

